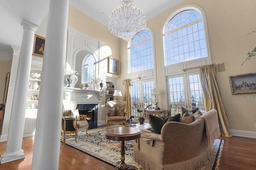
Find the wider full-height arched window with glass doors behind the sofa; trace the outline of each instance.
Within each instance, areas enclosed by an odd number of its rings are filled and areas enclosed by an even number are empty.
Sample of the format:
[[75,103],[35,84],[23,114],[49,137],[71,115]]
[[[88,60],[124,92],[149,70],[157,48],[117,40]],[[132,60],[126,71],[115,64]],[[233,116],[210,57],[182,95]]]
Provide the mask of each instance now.
[[[176,11],[163,29],[168,104],[171,114],[181,108],[204,110],[197,66],[210,63],[208,36],[203,10],[185,6]],[[182,70],[186,68],[186,72]]]

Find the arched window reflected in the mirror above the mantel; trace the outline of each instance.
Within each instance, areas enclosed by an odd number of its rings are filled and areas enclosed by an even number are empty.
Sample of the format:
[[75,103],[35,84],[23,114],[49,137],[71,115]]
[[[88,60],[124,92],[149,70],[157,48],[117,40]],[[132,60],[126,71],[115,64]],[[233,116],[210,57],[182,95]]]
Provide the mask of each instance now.
[[95,77],[96,66],[93,55],[88,55],[83,63],[83,81],[82,83],[92,82]]

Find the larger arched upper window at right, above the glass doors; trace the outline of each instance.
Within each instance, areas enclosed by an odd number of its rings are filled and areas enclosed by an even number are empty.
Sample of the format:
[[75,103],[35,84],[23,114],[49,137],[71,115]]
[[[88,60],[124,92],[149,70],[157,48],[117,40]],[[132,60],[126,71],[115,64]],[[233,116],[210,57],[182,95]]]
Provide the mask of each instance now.
[[164,29],[165,64],[192,61],[207,56],[204,20],[196,10],[184,10]]

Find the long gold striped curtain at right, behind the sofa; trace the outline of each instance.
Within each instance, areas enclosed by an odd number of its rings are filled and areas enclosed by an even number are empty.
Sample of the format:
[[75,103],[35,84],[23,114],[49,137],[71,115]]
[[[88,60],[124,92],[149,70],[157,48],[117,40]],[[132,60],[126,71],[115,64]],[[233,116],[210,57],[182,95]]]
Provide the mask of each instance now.
[[199,66],[200,81],[202,86],[202,96],[204,99],[204,108],[206,111],[216,109],[218,111],[218,121],[220,126],[220,135],[232,137],[229,133],[228,117],[224,110],[220,91],[218,88],[216,66],[208,64]]

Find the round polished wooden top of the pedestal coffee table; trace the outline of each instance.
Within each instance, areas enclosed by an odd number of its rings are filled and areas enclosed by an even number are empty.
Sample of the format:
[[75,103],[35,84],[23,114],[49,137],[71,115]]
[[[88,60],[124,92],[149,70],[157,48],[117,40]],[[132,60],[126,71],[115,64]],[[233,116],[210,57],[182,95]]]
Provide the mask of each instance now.
[[105,138],[113,141],[129,141],[140,137],[141,131],[130,127],[113,127],[104,131]]

